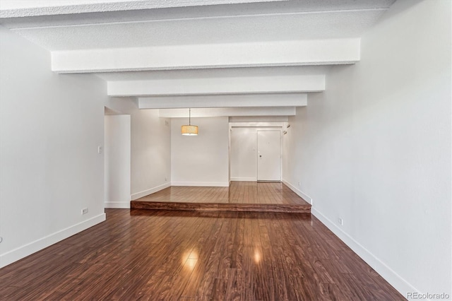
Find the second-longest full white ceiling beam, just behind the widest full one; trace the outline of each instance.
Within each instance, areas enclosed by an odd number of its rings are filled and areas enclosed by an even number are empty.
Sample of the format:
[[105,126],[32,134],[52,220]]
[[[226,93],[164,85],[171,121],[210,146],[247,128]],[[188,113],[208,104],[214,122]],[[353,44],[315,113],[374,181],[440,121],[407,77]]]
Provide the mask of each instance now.
[[109,96],[305,93],[325,90],[325,76],[242,76],[109,81]]

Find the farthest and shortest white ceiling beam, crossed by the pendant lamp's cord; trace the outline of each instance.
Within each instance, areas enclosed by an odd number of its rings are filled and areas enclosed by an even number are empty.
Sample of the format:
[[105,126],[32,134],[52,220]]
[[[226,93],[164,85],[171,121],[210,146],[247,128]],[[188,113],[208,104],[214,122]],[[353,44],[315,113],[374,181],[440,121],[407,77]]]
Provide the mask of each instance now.
[[[191,110],[191,117],[235,117],[235,116],[295,116],[295,107],[222,107],[195,108]],[[187,109],[160,109],[159,116],[165,118],[189,118]]]

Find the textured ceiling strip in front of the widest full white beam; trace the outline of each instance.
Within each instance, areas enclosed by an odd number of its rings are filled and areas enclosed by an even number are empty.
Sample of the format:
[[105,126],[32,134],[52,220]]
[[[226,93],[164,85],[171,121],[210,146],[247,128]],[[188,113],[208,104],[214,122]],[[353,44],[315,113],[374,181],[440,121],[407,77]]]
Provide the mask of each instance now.
[[49,50],[153,47],[359,37],[384,10],[60,25],[15,29]]

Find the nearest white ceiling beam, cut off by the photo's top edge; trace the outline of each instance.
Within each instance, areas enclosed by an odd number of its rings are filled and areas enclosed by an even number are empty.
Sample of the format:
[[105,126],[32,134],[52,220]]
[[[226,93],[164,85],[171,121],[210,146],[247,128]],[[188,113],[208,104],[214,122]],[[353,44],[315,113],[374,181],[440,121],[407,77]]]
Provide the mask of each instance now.
[[[388,8],[395,0],[0,0],[0,18],[49,16],[54,20],[71,18],[71,14],[104,13],[103,18],[127,16],[141,18],[186,18],[249,13],[290,13],[294,11],[338,11]],[[234,4],[234,5],[230,5]],[[155,9],[159,8],[159,9]],[[127,11],[133,11],[127,14]],[[117,13],[115,13],[117,12]],[[137,12],[140,12],[137,14]],[[111,13],[111,14],[105,14]],[[46,18],[40,18],[40,21]],[[47,18],[48,20],[48,18]]]

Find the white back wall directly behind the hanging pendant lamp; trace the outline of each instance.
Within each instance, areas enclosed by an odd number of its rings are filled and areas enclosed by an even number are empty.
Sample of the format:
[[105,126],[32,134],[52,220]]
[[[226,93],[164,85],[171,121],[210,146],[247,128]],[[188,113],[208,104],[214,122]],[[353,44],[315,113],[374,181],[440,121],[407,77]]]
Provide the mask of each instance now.
[[188,118],[173,118],[171,182],[174,186],[229,186],[229,122],[227,117],[192,118],[198,136],[183,136]]

